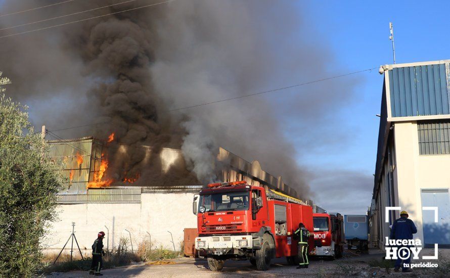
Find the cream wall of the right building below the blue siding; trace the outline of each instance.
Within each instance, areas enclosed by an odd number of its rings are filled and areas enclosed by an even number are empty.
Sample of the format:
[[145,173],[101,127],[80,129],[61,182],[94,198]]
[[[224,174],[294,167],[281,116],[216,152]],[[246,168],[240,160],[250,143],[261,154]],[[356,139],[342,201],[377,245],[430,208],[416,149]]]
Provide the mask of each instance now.
[[[395,168],[393,186],[395,206],[408,211],[417,228],[415,239],[423,241],[421,189],[449,188],[450,155],[419,155],[417,122],[394,124]],[[384,249],[384,239],[389,235],[389,225],[385,223],[387,205],[388,157],[385,157],[384,172],[381,177],[380,194],[377,195],[377,219],[382,228],[380,248]],[[395,213],[399,217],[399,211]]]

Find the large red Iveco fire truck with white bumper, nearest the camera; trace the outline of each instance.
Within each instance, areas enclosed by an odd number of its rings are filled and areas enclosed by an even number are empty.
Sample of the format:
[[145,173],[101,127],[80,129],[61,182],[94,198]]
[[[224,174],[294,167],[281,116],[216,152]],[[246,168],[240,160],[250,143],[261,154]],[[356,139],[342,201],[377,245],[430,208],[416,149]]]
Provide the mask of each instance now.
[[199,233],[195,248],[206,254],[213,271],[220,271],[227,259],[248,259],[258,270],[267,270],[274,257],[294,263],[293,232],[299,223],[313,230],[312,207],[246,181],[208,184],[199,195],[198,204],[198,196],[193,203]]

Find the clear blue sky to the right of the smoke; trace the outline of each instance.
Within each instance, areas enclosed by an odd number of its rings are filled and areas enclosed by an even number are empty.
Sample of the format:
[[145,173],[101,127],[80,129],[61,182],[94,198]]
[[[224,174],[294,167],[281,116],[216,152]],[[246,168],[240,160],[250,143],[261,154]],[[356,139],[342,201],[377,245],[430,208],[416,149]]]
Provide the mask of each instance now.
[[[392,64],[392,44],[389,40],[389,22],[394,25],[397,63],[450,59],[448,45],[449,19],[445,11],[450,2],[419,1],[309,1],[299,2],[299,14],[311,25],[311,37],[328,42],[334,56],[330,72],[337,74]],[[340,71],[342,70],[342,71]],[[329,74],[329,73],[328,73]],[[325,74],[327,76],[327,74]],[[380,112],[382,75],[378,70],[357,74],[360,82],[356,86],[356,97],[341,107],[339,117],[344,120],[342,128],[349,134],[345,145],[331,144],[323,149],[302,154],[300,163],[311,168],[327,167],[331,171],[358,172],[364,175],[361,182],[367,184],[367,193],[356,195],[351,187],[345,187],[346,180],[334,177],[319,178],[316,186],[331,194],[319,194],[319,204],[330,210],[338,210],[333,196],[357,203],[359,196],[366,199],[358,206],[344,208],[344,213],[364,213],[364,202],[370,205],[373,188],[372,174],[375,171]],[[347,77],[344,77],[347,78]],[[350,179],[352,175],[349,175]],[[345,175],[344,175],[345,178]],[[359,180],[359,179],[357,179]],[[321,182],[340,186],[331,190]],[[370,183],[369,183],[370,182]],[[359,187],[360,189],[362,187]],[[337,193],[341,191],[341,193]],[[343,193],[342,193],[343,192]],[[336,193],[337,195],[335,195]],[[348,195],[348,196],[346,196]],[[336,197],[334,197],[336,198]],[[345,199],[346,198],[346,199]]]

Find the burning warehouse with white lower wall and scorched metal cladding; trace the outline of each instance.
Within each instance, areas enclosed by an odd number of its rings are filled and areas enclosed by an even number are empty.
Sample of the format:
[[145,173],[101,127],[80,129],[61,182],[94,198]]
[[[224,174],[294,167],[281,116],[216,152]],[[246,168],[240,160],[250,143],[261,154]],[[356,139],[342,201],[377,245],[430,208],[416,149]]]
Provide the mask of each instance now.
[[[114,183],[89,188],[88,183],[98,178],[104,160],[102,154],[108,144],[94,137],[49,141],[49,144],[51,161],[60,165],[69,182],[58,194],[59,219],[52,223],[44,241],[47,251],[61,250],[72,233],[72,222],[75,222],[75,236],[84,252],[91,249],[100,230],[106,233],[104,244],[109,250],[117,247],[120,238],[131,241],[129,251],[136,251],[144,240],[151,240],[156,247],[179,250],[184,229],[197,227],[192,202],[204,184],[174,182],[155,186],[141,180],[139,186]],[[121,152],[126,152],[127,148],[127,145],[119,146]],[[142,152],[146,158],[152,156],[151,147],[142,146]],[[163,148],[156,155],[161,177],[174,167],[186,168],[180,150]],[[281,176],[265,172],[256,160],[250,163],[220,148],[215,163],[221,164],[217,178],[223,182],[246,180],[249,184],[299,197]],[[70,250],[69,245],[66,249]]]

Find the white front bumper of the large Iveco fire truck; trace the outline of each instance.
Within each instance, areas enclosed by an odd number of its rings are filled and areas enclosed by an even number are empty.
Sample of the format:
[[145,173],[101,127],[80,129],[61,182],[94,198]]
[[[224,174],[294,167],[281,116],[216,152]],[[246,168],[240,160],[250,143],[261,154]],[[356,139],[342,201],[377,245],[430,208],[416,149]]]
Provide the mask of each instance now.
[[213,236],[195,238],[197,250],[220,250],[227,252],[231,249],[251,249],[253,240],[251,236]]

